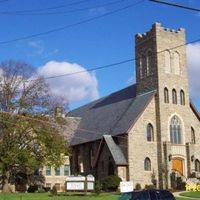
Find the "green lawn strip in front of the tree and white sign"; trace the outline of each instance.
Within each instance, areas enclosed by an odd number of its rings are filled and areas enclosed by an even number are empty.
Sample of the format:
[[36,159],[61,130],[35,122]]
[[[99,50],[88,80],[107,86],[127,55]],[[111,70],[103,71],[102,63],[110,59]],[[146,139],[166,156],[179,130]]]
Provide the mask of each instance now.
[[119,195],[102,193],[99,196],[88,194],[50,196],[48,193],[25,193],[25,194],[0,194],[0,200],[117,200]]

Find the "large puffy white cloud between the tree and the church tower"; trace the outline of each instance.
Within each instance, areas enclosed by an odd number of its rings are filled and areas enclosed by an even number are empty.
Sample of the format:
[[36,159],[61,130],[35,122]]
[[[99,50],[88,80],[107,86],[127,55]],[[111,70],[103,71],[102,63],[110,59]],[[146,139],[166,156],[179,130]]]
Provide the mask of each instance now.
[[83,99],[94,100],[99,97],[98,82],[94,73],[83,72],[85,68],[68,62],[50,61],[38,69],[38,73],[44,77],[59,76],[76,73],[74,75],[61,76],[47,79],[52,93],[61,96],[73,103]]

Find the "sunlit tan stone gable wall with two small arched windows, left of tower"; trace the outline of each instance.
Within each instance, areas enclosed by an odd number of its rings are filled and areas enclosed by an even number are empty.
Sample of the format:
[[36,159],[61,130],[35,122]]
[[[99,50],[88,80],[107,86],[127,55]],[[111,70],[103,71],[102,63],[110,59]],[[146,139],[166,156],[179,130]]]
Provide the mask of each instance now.
[[[129,131],[128,137],[128,162],[129,180],[134,184],[140,183],[142,187],[152,184],[152,175],[158,180],[157,163],[157,127],[155,115],[155,98],[144,108],[144,112],[135,122]],[[154,130],[154,141],[147,141],[147,125],[151,123]],[[151,170],[144,170],[144,160],[148,157],[151,160]]]

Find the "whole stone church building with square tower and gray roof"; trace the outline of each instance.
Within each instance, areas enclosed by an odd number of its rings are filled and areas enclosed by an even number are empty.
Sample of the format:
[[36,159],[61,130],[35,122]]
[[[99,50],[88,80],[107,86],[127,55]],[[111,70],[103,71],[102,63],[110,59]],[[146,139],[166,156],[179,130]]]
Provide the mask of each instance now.
[[72,110],[72,174],[170,187],[200,176],[200,115],[188,87],[185,30],[135,36],[136,84]]

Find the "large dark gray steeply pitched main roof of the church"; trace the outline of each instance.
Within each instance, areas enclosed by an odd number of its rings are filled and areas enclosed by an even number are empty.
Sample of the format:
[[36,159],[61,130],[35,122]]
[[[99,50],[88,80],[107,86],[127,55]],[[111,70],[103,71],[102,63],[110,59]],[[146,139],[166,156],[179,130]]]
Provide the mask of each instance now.
[[142,113],[155,91],[136,96],[136,85],[72,110],[69,117],[80,118],[71,145],[101,139],[103,135],[125,133]]

